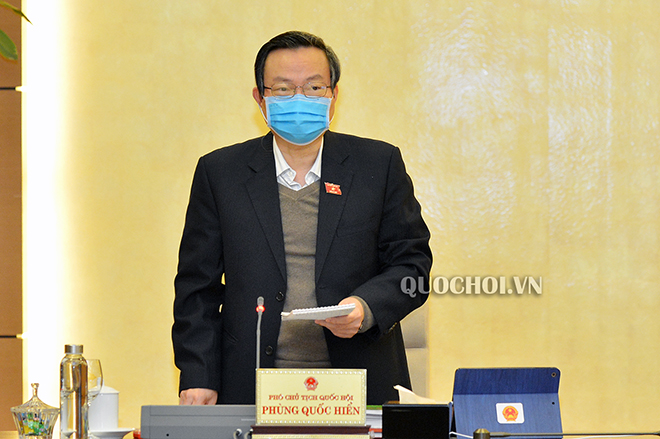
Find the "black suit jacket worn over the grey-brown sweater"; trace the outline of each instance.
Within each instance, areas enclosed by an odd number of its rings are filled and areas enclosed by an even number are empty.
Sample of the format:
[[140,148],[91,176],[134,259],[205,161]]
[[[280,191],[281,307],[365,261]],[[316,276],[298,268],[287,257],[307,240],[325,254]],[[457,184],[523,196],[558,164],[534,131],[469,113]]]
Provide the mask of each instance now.
[[[325,183],[339,185],[341,195],[326,192]],[[359,296],[376,321],[350,339],[325,330],[330,360],[367,369],[369,404],[395,400],[392,386],[410,385],[398,322],[426,299],[404,294],[401,281],[428,282],[431,267],[429,231],[399,149],[327,132],[320,192],[318,304]],[[254,403],[256,300],[263,296],[266,309],[261,367],[274,367],[287,291],[271,134],[199,160],[175,288],[180,389],[211,388],[219,403]]]

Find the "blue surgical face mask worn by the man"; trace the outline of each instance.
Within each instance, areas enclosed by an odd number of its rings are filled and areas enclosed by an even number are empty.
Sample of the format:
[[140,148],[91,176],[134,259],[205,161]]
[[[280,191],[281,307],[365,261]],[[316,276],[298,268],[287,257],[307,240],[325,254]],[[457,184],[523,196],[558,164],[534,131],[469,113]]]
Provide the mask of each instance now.
[[330,98],[311,99],[302,94],[266,100],[268,127],[287,142],[308,145],[330,127]]

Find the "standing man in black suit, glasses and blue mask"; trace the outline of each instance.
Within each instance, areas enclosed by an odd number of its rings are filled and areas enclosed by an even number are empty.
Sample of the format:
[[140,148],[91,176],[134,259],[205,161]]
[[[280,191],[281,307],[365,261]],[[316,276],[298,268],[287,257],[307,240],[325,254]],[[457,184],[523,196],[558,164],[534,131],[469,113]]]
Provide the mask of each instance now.
[[[429,231],[398,148],[327,131],[339,76],[320,38],[273,38],[253,90],[271,132],[197,165],[175,280],[181,404],[254,403],[259,296],[261,367],[367,369],[369,404],[410,386],[398,322],[426,295],[401,285],[428,285]],[[280,318],[351,303],[346,316]]]

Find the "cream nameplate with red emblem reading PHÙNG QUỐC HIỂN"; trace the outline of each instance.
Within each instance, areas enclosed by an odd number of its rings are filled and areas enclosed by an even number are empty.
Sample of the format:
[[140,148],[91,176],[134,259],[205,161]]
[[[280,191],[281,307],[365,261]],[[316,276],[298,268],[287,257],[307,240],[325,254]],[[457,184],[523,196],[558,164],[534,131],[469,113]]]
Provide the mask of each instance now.
[[364,425],[364,369],[257,369],[257,424]]

